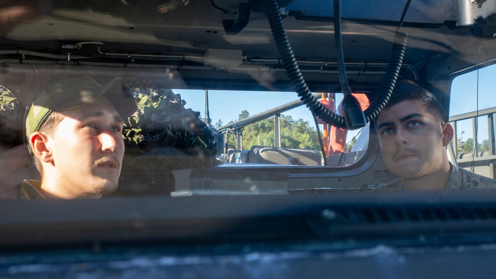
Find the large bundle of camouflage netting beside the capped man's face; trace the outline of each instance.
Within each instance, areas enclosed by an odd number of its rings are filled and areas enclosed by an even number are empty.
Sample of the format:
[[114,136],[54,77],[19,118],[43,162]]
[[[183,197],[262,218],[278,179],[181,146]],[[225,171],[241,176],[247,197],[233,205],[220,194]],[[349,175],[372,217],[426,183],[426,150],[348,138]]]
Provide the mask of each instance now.
[[199,112],[172,90],[138,93],[138,111],[124,127],[123,172],[217,166],[213,133]]

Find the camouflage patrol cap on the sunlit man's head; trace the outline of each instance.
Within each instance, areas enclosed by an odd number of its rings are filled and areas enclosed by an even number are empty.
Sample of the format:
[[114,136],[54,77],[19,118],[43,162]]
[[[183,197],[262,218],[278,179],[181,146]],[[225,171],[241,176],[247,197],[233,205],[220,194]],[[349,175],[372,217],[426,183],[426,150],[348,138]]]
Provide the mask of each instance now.
[[88,76],[50,83],[36,97],[26,116],[26,136],[38,131],[50,113],[78,108],[105,96],[124,119],[136,111],[136,101],[122,77],[104,85]]

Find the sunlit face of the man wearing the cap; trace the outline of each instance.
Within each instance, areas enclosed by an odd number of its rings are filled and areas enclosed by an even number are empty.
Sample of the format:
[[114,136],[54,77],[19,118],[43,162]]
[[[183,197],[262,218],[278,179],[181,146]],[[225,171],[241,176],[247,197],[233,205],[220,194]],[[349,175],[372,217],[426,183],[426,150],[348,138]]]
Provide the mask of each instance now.
[[114,192],[124,157],[122,117],[105,97],[63,114],[49,143],[58,184],[79,197]]

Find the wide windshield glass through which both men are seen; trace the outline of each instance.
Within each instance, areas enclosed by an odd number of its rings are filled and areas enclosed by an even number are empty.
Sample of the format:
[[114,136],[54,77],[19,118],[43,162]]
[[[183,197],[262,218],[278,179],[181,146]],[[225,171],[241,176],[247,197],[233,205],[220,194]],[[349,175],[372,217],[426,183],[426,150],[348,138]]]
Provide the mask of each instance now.
[[[493,177],[492,20],[435,1],[442,16],[343,2],[343,24],[322,1],[166,2],[0,9],[3,200],[468,189],[453,177]],[[469,18],[491,18],[486,6]]]

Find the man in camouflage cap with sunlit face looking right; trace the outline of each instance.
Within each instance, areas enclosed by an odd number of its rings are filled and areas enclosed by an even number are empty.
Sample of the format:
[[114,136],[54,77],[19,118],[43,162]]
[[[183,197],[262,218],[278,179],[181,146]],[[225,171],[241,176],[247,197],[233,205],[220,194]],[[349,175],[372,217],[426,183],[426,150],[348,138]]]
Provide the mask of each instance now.
[[49,84],[26,117],[26,136],[42,180],[24,180],[20,199],[100,198],[117,189],[124,119],[135,100],[120,77]]

